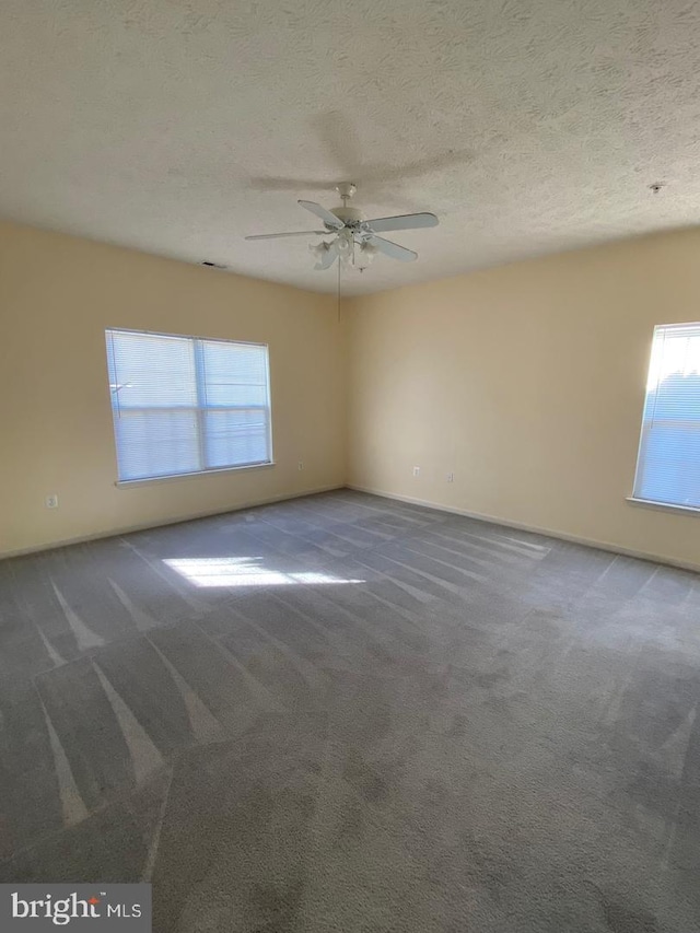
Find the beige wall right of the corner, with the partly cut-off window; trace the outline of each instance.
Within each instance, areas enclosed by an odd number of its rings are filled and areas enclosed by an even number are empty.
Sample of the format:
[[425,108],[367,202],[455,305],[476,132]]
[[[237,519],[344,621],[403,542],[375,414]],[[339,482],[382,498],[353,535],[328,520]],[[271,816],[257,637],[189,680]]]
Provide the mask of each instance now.
[[653,326],[700,319],[700,231],[355,299],[345,317],[352,485],[700,567],[700,515],[626,501]]

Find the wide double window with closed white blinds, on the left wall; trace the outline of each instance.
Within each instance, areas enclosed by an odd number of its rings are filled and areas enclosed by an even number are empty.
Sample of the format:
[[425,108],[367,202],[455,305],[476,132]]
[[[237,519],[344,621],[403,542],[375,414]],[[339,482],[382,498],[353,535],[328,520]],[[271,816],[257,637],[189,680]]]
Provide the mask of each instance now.
[[119,480],[271,462],[267,347],[107,330]]

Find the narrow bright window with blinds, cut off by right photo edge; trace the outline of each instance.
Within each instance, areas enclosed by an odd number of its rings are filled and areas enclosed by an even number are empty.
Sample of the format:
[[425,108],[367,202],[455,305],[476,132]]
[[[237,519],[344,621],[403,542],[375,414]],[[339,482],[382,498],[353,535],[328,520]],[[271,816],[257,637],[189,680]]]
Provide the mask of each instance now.
[[634,498],[700,509],[700,323],[654,328]]

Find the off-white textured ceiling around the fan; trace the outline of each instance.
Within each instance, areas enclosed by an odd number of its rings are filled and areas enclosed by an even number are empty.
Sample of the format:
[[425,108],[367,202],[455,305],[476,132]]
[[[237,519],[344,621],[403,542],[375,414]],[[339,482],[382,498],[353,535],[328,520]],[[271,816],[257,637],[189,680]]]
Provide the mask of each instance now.
[[0,127],[0,215],[303,288],[296,198],[439,214],[370,292],[697,223],[700,4],[2,0]]

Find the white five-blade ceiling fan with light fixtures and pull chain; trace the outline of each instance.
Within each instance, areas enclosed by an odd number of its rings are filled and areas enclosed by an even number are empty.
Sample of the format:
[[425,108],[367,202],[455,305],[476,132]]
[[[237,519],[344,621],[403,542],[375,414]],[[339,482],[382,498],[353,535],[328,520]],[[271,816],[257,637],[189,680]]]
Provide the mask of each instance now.
[[425,226],[438,226],[434,213],[408,213],[397,217],[380,217],[365,220],[364,214],[357,208],[348,207],[348,201],[354,195],[357,187],[350,182],[337,185],[342,207],[326,210],[315,201],[298,201],[307,211],[316,214],[324,223],[323,230],[303,230],[293,233],[261,233],[246,236],[246,240],[276,240],[282,236],[329,236],[320,243],[310,244],[310,249],[316,257],[315,269],[329,269],[336,259],[340,265],[354,267],[362,271],[374,259],[377,253],[383,253],[392,259],[401,263],[412,263],[418,253],[399,246],[390,240],[377,236],[394,230],[418,230]]

